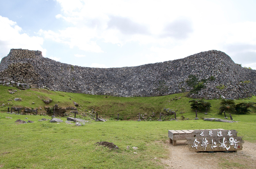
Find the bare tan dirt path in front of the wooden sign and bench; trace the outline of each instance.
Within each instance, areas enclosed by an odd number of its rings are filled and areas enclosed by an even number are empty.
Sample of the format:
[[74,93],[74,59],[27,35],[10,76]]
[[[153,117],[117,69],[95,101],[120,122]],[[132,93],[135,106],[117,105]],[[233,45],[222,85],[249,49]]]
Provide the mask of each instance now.
[[224,152],[199,152],[189,151],[185,141],[177,141],[177,146],[169,144],[164,146],[169,149],[168,159],[161,159],[168,169],[256,169],[256,143],[245,141],[243,150],[231,153]]

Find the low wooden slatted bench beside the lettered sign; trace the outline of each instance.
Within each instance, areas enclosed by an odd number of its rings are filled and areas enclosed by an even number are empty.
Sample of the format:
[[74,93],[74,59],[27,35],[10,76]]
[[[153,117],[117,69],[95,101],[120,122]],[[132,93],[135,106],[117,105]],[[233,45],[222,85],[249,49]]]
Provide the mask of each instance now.
[[194,137],[194,130],[169,130],[170,144],[176,145],[177,140],[187,140],[186,137]]

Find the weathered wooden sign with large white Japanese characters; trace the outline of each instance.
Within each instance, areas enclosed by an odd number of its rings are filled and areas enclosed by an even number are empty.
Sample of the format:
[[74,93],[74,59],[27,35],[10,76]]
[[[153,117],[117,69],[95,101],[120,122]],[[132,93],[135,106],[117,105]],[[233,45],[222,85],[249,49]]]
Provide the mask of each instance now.
[[186,137],[190,151],[242,150],[242,137],[236,130],[207,129],[193,131],[194,137]]

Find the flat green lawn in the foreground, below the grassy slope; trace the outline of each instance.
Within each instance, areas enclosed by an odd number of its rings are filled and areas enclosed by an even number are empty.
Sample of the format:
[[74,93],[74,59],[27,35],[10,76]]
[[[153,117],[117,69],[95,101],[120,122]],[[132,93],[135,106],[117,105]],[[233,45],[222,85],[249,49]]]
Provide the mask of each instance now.
[[[256,130],[255,115],[237,115],[235,118],[240,121],[237,123],[92,121],[81,127],[38,121],[46,116],[2,115],[13,118],[0,119],[0,165],[3,168],[164,168],[152,159],[167,158],[168,151],[162,142],[168,141],[169,129],[236,129],[244,140],[256,141],[256,133],[252,132]],[[35,123],[15,123],[25,117]],[[100,141],[113,142],[119,150],[95,145]],[[126,150],[128,145],[139,149]]]

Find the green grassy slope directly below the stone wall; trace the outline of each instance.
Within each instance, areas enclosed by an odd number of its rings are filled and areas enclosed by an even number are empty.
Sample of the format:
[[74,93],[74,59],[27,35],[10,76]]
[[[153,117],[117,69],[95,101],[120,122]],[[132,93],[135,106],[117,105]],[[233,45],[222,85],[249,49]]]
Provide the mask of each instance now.
[[[18,90],[14,94],[8,92],[9,89],[17,89],[15,87],[0,86],[0,104],[5,104],[4,107],[0,107],[0,112],[6,112],[7,107],[28,107],[28,108],[42,108],[53,107],[58,104],[59,107],[75,107],[72,101],[79,104],[79,113],[88,112],[92,108],[94,111],[100,114],[117,114],[124,116],[131,116],[133,119],[137,118],[138,113],[156,114],[165,113],[164,108],[170,108],[176,111],[177,116],[180,116],[180,110],[184,108],[184,116],[189,119],[195,118],[195,112],[190,109],[188,101],[190,98],[186,97],[187,93],[179,93],[168,96],[160,97],[112,97],[112,96],[99,96],[88,95],[81,93],[67,93],[67,92],[52,92],[45,89],[29,89],[26,91]],[[173,98],[179,98],[179,100],[172,100]],[[14,101],[15,98],[21,98],[22,101]],[[12,101],[8,101],[12,99]],[[52,99],[52,103],[49,105],[44,104],[41,99]],[[71,100],[70,100],[71,99]],[[208,112],[208,116],[212,115],[217,117],[220,100],[209,100],[212,104],[211,110]],[[242,100],[236,100],[236,103]],[[256,102],[256,97],[253,96],[250,101]],[[8,102],[10,103],[8,105]],[[32,104],[34,102],[35,104]],[[86,111],[88,110],[88,111]],[[255,114],[255,111],[253,111]],[[159,116],[159,115],[158,115]],[[199,117],[204,116],[203,113],[199,113]],[[205,116],[206,117],[206,116]],[[218,117],[224,117],[218,116]]]

